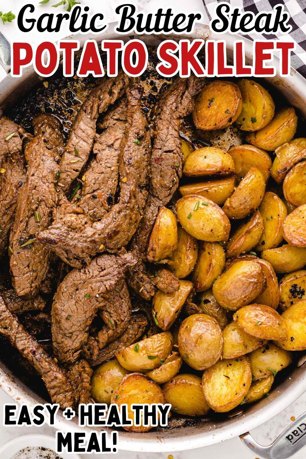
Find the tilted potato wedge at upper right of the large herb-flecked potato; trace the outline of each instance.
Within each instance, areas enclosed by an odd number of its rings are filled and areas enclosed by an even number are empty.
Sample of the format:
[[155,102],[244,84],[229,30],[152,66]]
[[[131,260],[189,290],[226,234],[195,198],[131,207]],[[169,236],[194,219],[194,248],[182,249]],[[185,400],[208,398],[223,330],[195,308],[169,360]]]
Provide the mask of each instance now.
[[230,196],[223,210],[228,218],[244,218],[254,212],[262,201],[266,189],[266,182],[257,168],[250,168],[241,180],[238,187]]

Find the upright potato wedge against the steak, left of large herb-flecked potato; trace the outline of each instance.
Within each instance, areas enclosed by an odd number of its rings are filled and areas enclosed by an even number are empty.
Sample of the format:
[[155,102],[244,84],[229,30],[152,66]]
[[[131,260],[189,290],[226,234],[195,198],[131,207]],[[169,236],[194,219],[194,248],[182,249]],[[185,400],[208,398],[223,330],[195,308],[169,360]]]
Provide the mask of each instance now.
[[178,245],[178,224],[173,212],[167,207],[161,207],[153,226],[147,259],[158,263],[172,256]]

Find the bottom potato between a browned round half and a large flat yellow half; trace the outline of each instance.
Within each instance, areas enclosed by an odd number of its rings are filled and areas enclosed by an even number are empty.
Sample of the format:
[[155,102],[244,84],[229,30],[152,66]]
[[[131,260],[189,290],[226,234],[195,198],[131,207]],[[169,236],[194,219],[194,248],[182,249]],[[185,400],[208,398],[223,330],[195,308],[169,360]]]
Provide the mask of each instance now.
[[177,375],[162,386],[166,403],[172,411],[186,416],[204,416],[209,406],[202,391],[202,381],[196,375]]

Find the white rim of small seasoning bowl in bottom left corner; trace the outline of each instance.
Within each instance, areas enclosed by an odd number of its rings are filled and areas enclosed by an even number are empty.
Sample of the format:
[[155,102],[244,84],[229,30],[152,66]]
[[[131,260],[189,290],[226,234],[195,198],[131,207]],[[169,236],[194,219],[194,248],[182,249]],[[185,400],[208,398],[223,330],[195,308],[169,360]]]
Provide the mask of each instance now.
[[[0,458],[11,459],[11,457],[18,453],[18,451],[31,446],[49,448],[55,452],[55,437],[53,438],[48,435],[33,434],[15,438],[0,448]],[[80,459],[80,456],[75,453],[58,453],[58,455],[63,459]]]

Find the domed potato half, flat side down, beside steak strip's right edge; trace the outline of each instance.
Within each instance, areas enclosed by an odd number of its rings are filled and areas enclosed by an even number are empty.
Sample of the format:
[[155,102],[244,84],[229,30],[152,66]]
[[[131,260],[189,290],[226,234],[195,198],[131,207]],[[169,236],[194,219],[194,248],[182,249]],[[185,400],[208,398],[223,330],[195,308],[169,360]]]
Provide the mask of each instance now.
[[190,153],[184,163],[186,177],[202,175],[229,175],[235,172],[233,158],[213,146],[206,146]]

